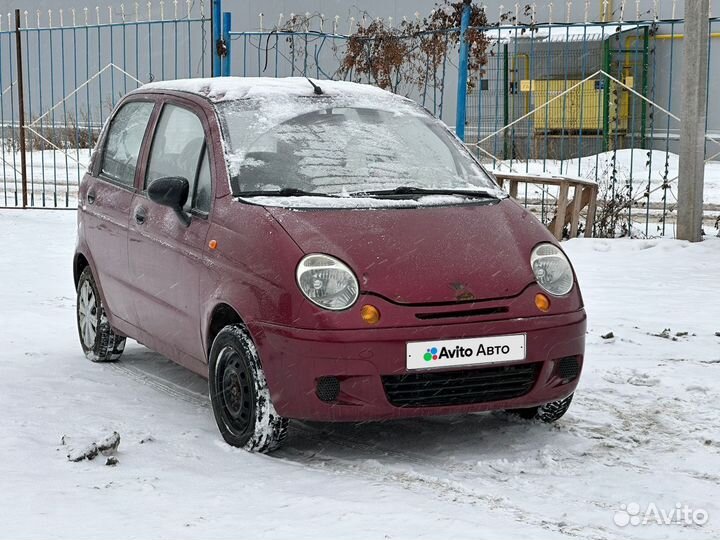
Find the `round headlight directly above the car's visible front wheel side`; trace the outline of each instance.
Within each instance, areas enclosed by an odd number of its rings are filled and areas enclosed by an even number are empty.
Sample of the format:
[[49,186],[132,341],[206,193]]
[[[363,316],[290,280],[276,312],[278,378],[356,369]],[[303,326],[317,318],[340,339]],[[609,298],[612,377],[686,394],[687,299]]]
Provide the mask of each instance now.
[[330,255],[303,257],[296,276],[302,293],[321,308],[334,311],[347,309],[358,298],[359,286],[355,274]]

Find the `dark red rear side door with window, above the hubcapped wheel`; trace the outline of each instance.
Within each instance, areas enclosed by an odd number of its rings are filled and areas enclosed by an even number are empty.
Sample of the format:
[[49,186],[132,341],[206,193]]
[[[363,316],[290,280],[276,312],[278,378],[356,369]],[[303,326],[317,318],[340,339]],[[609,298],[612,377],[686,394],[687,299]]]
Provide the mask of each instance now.
[[137,98],[117,110],[80,188],[86,242],[111,323],[119,318],[137,324],[130,294],[128,222],[138,159],[154,107],[154,101]]

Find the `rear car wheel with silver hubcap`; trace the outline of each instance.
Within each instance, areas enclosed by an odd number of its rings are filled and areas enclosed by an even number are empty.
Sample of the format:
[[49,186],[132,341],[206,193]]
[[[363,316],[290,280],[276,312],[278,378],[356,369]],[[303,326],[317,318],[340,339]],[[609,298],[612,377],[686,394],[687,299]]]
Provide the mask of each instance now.
[[80,274],[75,307],[78,337],[85,357],[92,362],[114,362],[125,350],[125,337],[108,321],[95,278],[89,266]]

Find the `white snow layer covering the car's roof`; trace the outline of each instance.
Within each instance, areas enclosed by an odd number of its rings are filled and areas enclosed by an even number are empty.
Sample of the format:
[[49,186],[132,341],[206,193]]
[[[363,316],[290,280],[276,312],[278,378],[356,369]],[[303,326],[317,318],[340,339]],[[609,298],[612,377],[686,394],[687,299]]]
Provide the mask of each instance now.
[[[384,98],[407,101],[375,86],[347,81],[312,79],[329,97]],[[213,102],[262,97],[313,96],[313,86],[305,77],[215,77],[206,79],[177,79],[145,84],[140,90],[175,90],[197,94]]]

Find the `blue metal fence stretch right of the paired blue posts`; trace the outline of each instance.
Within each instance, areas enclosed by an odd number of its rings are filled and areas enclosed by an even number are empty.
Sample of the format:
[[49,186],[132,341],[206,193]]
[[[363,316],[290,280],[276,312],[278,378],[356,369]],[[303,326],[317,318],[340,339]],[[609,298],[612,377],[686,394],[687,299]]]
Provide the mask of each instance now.
[[[332,30],[325,23],[301,19],[282,31],[225,28],[223,73],[375,83],[341,69],[352,27],[339,34],[337,21]],[[709,24],[712,96],[720,81],[720,51],[714,50],[720,33],[713,32],[720,19]],[[595,180],[601,198],[595,234],[674,235],[683,21],[529,21],[475,30],[487,38],[486,61],[469,73],[464,96],[455,97],[463,64],[456,50],[426,84],[401,92],[450,125],[463,108],[465,142],[490,168]],[[720,109],[709,112],[705,225],[711,229],[720,215],[720,163],[714,161],[720,156]],[[519,192],[546,223],[555,215],[557,196],[533,184]]]

